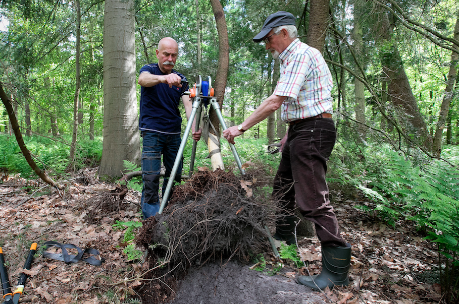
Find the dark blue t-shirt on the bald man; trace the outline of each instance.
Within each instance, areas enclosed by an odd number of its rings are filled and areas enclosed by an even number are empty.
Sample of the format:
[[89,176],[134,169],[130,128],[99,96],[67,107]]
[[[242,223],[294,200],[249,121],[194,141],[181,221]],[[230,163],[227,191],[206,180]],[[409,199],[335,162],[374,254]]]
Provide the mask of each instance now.
[[[148,72],[155,75],[166,75],[161,72],[158,64],[145,65],[139,74]],[[172,70],[183,80],[185,76]],[[165,134],[180,134],[182,117],[180,116],[180,97],[188,89],[188,85],[181,88],[160,83],[152,87],[140,88],[140,131],[154,131]]]

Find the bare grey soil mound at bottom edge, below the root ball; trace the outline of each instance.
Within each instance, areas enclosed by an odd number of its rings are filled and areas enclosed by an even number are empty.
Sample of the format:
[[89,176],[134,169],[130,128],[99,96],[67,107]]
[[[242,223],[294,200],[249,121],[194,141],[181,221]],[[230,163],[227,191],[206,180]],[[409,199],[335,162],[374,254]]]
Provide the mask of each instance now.
[[325,304],[292,277],[269,276],[237,261],[193,269],[178,284],[170,304]]

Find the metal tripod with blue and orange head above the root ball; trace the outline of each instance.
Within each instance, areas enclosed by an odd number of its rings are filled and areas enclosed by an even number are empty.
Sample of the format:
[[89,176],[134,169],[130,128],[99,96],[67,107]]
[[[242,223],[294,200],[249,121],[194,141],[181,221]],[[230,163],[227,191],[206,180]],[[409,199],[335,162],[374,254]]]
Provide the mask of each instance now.
[[[214,94],[213,94],[213,88],[212,88],[212,79],[210,76],[208,76],[208,81],[202,81],[201,76],[198,75],[196,77],[196,83],[193,89],[190,90],[189,94],[190,94],[190,97],[194,98],[192,110],[191,110],[190,116],[188,117],[188,124],[186,125],[185,133],[183,134],[182,141],[180,142],[180,147],[178,149],[177,156],[175,157],[174,166],[172,167],[171,175],[169,176],[166,190],[161,199],[161,206],[160,206],[160,210],[158,211],[159,214],[161,214],[163,212],[164,207],[166,207],[167,199],[171,193],[175,176],[177,175],[177,170],[180,165],[180,161],[183,155],[183,150],[185,149],[186,141],[188,139],[194,117],[196,117],[195,130],[199,130],[202,106],[204,105],[207,106],[207,104],[210,103],[212,105],[212,108],[217,113],[218,119],[220,121],[220,124],[222,125],[223,130],[228,129],[226,127],[225,120],[223,119],[223,115],[220,110],[220,105],[217,102],[217,98],[213,97]],[[196,145],[197,143],[193,141],[193,148],[191,151],[190,172],[189,172],[190,176],[191,176],[191,173],[194,167],[194,159],[196,155]],[[229,145],[230,145],[231,151],[233,152],[237,166],[239,167],[239,170],[241,171],[241,174],[245,175],[245,171],[244,169],[242,169],[242,162],[239,158],[239,155],[237,154],[236,147],[234,147],[234,145],[231,143],[229,143]]]

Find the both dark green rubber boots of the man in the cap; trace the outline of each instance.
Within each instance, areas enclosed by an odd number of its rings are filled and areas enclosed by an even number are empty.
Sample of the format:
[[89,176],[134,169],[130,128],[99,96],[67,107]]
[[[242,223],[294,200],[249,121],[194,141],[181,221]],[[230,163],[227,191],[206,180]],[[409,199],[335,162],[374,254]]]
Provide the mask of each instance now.
[[[288,245],[296,244],[295,216],[286,216],[276,221],[276,233],[274,237],[278,240],[285,240]],[[322,247],[322,271],[314,276],[298,276],[296,281],[299,284],[308,286],[316,291],[325,288],[332,289],[334,286],[349,285],[347,272],[350,266],[350,244],[346,247]]]

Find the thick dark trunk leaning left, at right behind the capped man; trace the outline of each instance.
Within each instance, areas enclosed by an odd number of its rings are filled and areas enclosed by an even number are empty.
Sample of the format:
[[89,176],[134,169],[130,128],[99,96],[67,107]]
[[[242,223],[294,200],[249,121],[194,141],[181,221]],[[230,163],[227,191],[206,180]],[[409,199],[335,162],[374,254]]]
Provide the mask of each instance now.
[[396,42],[392,41],[393,26],[382,7],[379,7],[377,16],[376,32],[379,37],[376,41],[380,42],[380,58],[385,80],[388,81],[388,95],[395,109],[399,111],[397,122],[410,137],[418,139],[422,146],[432,151],[432,137],[411,90]]

